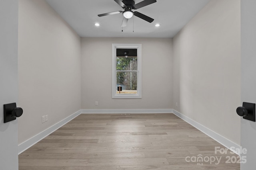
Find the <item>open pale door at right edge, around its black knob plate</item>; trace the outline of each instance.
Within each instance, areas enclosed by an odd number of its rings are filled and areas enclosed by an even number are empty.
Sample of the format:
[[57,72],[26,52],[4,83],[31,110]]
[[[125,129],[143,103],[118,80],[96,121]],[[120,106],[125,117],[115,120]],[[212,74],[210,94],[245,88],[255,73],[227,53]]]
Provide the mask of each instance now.
[[[256,103],[256,1],[241,0],[241,74],[242,102]],[[256,122],[241,118],[241,146],[247,149],[246,164],[241,170],[254,170],[256,167]]]

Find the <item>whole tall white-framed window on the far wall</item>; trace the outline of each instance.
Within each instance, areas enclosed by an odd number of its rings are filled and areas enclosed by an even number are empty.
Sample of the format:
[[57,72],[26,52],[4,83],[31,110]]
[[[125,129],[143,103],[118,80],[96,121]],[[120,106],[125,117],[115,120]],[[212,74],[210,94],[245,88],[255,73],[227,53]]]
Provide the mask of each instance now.
[[112,98],[142,98],[141,44],[112,44]]

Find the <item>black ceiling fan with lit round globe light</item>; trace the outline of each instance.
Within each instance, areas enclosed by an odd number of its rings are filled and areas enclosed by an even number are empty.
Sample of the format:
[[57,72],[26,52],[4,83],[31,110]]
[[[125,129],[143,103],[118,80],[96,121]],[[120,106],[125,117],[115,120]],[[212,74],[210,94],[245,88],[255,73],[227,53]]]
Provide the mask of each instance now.
[[118,5],[120,5],[124,11],[116,11],[116,12],[108,12],[105,14],[99,14],[99,17],[102,16],[108,16],[108,15],[113,15],[113,14],[120,14],[122,13],[124,16],[124,19],[122,21],[122,27],[126,27],[128,19],[132,18],[132,16],[137,16],[138,18],[141,18],[142,20],[148,21],[148,22],[153,22],[154,19],[150,18],[148,16],[145,16],[144,14],[141,14],[140,12],[137,11],[132,11],[132,10],[137,10],[139,8],[142,8],[144,6],[153,4],[156,2],[156,0],[144,0],[142,2],[139,2],[138,4],[135,4],[134,0],[114,0]]

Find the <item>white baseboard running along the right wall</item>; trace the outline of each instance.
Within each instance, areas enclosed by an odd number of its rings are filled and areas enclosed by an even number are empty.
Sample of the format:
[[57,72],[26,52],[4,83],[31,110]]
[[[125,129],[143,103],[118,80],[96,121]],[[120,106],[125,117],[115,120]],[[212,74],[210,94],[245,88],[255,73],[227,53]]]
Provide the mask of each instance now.
[[173,109],[172,113],[174,113],[176,116],[180,117],[181,119],[183,119],[190,125],[194,126],[196,129],[202,131],[203,133],[205,133],[206,135],[208,135],[209,137],[211,137],[212,139],[214,139],[215,141],[217,141],[224,147],[230,149],[232,152],[234,152],[240,156],[240,153],[237,152],[237,150],[236,150],[236,149],[240,149],[240,145],[237,145],[236,143],[230,141],[229,139],[226,139],[222,135],[212,131],[211,129],[208,129],[204,125],[201,125],[200,123],[190,119],[189,117],[186,117],[185,115],[183,115],[182,113],[179,113],[178,111],[176,111],[174,109]]

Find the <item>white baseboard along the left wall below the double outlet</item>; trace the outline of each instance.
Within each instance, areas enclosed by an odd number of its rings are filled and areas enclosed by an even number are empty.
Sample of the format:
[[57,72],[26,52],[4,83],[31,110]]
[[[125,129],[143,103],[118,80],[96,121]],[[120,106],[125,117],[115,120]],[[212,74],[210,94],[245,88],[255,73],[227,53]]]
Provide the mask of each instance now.
[[32,147],[34,144],[36,144],[39,141],[41,141],[42,139],[44,139],[44,137],[50,135],[52,132],[56,131],[58,128],[62,127],[63,125],[65,125],[66,123],[68,123],[69,121],[71,121],[72,119],[74,119],[75,117],[77,117],[80,114],[81,114],[81,110],[79,110],[76,113],[66,117],[62,121],[59,121],[58,123],[52,125],[48,129],[38,133],[34,137],[32,137],[32,138],[24,141],[23,143],[19,144],[18,145],[18,154],[21,154],[22,152],[24,152],[28,148]]

